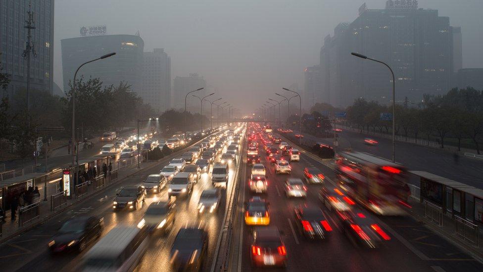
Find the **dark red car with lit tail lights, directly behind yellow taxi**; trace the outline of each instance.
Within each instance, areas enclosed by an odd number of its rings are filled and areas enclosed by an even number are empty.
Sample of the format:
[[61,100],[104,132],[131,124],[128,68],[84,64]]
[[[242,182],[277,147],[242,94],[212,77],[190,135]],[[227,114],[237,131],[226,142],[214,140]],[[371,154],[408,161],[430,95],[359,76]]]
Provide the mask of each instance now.
[[277,227],[257,227],[250,248],[252,267],[286,267],[287,249]]

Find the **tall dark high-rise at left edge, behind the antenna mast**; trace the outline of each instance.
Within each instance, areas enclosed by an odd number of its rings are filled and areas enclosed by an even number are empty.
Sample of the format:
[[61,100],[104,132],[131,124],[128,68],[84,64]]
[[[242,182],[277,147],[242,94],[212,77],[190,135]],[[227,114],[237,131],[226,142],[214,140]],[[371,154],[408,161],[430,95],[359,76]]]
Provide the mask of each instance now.
[[26,49],[28,11],[33,12],[35,29],[32,43],[35,56],[30,58],[30,88],[53,91],[54,0],[0,1],[0,61],[3,72],[10,74],[8,93],[27,88]]

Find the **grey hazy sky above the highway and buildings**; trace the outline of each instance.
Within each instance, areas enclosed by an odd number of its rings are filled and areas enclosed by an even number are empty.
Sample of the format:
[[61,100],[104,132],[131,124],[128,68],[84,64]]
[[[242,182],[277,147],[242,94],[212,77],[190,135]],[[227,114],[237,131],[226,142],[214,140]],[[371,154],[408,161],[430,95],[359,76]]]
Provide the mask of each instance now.
[[[172,78],[198,73],[232,105],[254,108],[282,87],[302,88],[323,38],[352,22],[363,2],[380,9],[386,0],[56,0],[54,81],[63,86],[60,40],[105,24],[108,34],[139,30],[145,51],[164,48]],[[461,26],[463,67],[483,67],[483,0],[420,0],[419,7]]]

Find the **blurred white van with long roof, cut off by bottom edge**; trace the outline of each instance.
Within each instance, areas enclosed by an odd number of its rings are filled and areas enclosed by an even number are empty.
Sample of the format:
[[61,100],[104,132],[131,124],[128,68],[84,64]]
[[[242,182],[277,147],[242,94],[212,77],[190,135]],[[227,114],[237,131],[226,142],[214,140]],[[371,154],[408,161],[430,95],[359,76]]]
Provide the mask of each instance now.
[[145,227],[111,229],[83,257],[83,271],[133,271],[147,250]]

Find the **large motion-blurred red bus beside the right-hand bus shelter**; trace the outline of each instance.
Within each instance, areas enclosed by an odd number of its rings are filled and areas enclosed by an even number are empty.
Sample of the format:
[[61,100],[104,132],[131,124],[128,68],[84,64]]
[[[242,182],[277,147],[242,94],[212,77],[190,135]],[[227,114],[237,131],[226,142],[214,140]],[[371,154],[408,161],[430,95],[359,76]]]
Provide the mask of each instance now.
[[[338,152],[336,170],[340,187],[378,215],[399,216],[408,206],[408,173],[404,166],[361,152]],[[351,201],[351,200],[350,200]]]

